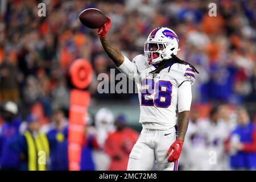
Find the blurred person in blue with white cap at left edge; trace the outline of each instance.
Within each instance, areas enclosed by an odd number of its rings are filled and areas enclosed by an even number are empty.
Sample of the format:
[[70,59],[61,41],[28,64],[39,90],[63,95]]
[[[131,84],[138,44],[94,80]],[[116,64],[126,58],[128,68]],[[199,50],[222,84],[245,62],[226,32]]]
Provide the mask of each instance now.
[[18,117],[18,106],[7,101],[2,108],[1,115],[4,120],[2,131],[0,131],[0,169],[18,169],[19,157],[11,150],[11,143],[19,135],[22,120]]

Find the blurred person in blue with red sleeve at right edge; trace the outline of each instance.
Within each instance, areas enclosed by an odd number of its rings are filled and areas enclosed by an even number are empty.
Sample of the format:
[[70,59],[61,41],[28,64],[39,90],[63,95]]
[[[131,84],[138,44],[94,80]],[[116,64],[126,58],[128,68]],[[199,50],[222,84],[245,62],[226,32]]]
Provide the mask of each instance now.
[[230,136],[230,167],[232,169],[256,169],[256,127],[250,122],[247,110],[238,110],[238,126]]

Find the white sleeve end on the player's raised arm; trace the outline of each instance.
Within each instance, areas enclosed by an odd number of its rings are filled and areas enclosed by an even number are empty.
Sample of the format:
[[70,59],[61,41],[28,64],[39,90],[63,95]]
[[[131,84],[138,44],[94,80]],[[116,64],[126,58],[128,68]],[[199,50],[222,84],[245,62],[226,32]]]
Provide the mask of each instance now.
[[135,64],[136,57],[133,59],[133,61],[130,61],[126,56],[123,57],[125,57],[125,60],[117,68],[128,78],[133,79],[135,74],[138,73],[137,65]]

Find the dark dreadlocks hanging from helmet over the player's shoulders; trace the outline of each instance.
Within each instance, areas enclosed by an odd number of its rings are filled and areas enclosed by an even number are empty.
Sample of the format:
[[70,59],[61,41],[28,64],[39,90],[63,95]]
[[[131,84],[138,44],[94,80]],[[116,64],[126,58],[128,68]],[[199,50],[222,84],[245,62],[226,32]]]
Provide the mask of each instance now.
[[[164,61],[163,64],[161,64],[158,68],[156,68],[155,70],[151,71],[150,73],[152,73],[153,75],[155,73],[159,73],[162,69],[166,68],[167,65],[170,64],[170,63],[173,63],[173,64],[174,63],[180,63],[180,64],[189,65],[193,69],[193,71],[195,71],[196,73],[199,73],[197,71],[197,69],[195,67],[193,67],[192,64],[188,63],[187,61],[183,61],[183,60],[179,59],[179,57],[177,57],[174,54],[172,54],[171,59],[168,59],[168,60]],[[170,72],[171,66],[172,66],[172,64],[170,65],[168,72]]]

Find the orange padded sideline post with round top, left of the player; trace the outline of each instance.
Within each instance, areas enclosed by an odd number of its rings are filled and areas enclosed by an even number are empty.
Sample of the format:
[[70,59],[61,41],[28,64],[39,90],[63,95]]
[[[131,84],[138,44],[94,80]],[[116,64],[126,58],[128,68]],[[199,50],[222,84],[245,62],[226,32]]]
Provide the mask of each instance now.
[[87,108],[90,103],[90,93],[80,90],[89,86],[92,81],[93,69],[90,63],[78,59],[69,68],[72,85],[69,108],[69,129],[68,129],[68,161],[69,170],[80,170],[80,158],[82,150],[82,139],[84,137],[84,125]]

